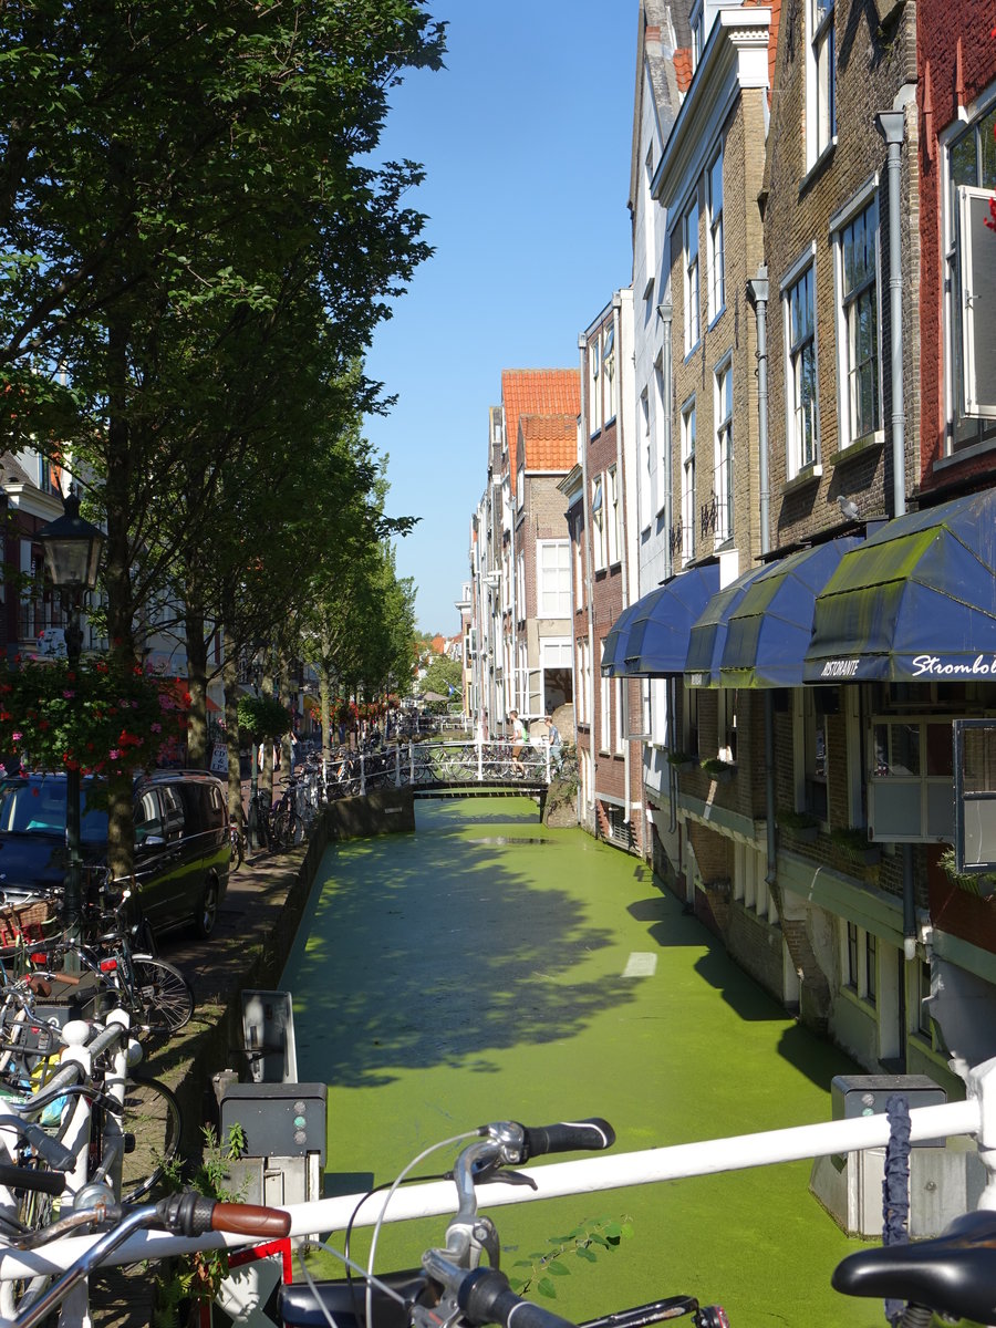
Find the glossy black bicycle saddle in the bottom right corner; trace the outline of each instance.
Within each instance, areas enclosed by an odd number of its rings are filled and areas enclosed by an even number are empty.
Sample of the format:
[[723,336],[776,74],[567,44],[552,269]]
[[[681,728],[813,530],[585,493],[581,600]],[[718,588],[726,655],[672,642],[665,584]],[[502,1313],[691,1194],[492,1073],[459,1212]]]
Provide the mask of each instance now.
[[849,1296],[907,1300],[979,1324],[996,1323],[996,1212],[956,1218],[943,1235],[847,1255],[830,1283]]

